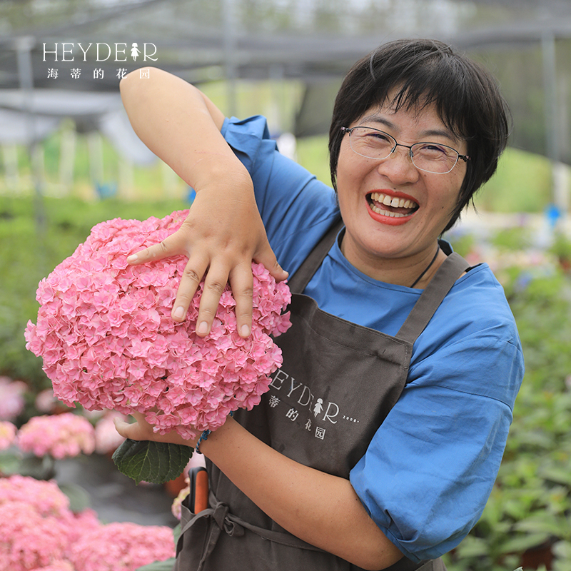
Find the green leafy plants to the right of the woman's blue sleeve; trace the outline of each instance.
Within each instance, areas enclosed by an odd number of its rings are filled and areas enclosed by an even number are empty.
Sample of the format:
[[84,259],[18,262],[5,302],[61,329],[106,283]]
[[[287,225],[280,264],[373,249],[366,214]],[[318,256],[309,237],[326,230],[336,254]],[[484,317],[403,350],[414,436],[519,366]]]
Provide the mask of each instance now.
[[571,283],[562,272],[512,279],[525,378],[492,495],[449,571],[505,571],[537,547],[552,548],[553,569],[571,568]]

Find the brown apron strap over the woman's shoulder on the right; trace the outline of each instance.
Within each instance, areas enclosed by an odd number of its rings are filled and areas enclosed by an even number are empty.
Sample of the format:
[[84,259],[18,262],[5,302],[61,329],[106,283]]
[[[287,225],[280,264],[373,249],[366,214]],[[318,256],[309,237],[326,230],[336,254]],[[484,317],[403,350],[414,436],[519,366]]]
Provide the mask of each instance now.
[[423,333],[455,281],[468,269],[470,264],[460,254],[451,253],[418,298],[396,337],[414,343],[418,335]]

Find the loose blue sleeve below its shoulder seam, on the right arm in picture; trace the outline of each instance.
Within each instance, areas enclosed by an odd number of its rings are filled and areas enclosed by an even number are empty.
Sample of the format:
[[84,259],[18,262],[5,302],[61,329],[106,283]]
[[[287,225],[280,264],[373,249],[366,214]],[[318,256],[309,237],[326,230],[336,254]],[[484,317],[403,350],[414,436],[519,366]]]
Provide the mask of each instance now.
[[370,517],[413,561],[458,545],[492,490],[523,375],[517,332],[501,333],[472,333],[414,363],[350,473]]

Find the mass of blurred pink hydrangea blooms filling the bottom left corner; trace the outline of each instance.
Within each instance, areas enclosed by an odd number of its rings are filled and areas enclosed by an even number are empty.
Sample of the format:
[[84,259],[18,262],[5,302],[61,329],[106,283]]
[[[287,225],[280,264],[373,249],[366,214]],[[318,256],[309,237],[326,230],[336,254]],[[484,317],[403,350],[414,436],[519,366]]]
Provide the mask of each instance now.
[[71,512],[54,481],[0,478],[0,522],[2,571],[134,571],[174,556],[170,527],[101,525]]

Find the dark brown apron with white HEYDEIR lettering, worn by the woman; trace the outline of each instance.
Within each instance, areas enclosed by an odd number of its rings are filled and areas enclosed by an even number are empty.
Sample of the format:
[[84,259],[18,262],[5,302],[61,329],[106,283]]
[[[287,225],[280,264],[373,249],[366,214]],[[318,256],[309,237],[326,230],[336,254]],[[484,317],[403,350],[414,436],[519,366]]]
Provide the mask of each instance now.
[[[400,397],[413,343],[468,263],[451,254],[395,337],[320,310],[300,293],[327,255],[335,224],[290,280],[290,329],[276,339],[283,365],[250,412],[234,418],[278,452],[317,470],[349,477]],[[207,461],[210,507],[183,505],[174,571],[358,571],[283,530]],[[403,557],[390,571],[445,571],[443,562]]]

